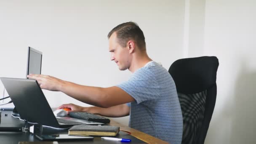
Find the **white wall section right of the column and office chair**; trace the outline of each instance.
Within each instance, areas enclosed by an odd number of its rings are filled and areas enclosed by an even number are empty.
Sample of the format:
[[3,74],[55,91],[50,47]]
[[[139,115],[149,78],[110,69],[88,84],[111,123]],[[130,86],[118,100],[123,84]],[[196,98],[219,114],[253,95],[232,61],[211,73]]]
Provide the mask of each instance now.
[[256,143],[256,1],[206,0],[204,55],[219,59],[206,144]]

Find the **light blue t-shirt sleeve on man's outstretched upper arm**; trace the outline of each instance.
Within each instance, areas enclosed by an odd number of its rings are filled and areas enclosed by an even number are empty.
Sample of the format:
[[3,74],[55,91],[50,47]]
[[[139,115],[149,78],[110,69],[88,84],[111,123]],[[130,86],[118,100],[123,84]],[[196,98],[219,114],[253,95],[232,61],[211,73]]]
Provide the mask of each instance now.
[[159,97],[159,85],[155,75],[145,70],[134,73],[128,81],[116,86],[131,95],[137,104]]

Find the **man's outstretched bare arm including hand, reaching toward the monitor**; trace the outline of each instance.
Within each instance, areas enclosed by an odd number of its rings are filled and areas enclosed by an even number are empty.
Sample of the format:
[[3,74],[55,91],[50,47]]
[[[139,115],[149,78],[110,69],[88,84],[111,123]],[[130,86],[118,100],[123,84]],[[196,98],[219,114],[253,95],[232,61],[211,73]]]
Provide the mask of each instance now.
[[97,107],[109,108],[135,101],[132,96],[116,86],[109,88],[78,85],[48,75],[28,75],[36,79],[40,87],[50,91],[61,91],[79,101]]

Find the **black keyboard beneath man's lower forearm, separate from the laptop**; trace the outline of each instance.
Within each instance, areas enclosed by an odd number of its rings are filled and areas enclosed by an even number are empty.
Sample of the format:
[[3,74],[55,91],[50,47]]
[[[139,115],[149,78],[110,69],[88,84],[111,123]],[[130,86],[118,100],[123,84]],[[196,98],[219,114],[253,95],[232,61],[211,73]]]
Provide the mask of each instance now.
[[78,119],[98,122],[98,123],[109,123],[110,122],[110,120],[106,117],[101,117],[99,115],[94,115],[94,114],[91,114],[88,112],[69,112],[69,116],[78,118]]

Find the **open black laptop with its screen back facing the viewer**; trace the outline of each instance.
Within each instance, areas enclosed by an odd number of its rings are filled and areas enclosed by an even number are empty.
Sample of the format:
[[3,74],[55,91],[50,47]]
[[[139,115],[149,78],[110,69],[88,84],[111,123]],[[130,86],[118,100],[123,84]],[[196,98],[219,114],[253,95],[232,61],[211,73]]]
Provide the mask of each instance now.
[[66,128],[72,125],[81,124],[104,124],[72,117],[55,117],[36,80],[8,77],[0,77],[0,79],[13,101],[14,106],[19,112],[21,119],[27,120],[31,123],[39,123],[56,128]]

